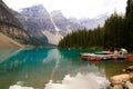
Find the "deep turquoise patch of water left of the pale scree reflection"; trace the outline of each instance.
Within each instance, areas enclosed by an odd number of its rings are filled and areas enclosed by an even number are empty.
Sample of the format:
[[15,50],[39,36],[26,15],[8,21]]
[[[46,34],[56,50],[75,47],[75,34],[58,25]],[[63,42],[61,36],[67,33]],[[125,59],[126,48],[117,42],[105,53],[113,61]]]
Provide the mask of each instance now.
[[0,63],[1,71],[14,70],[25,65],[34,65],[47,57],[48,49],[27,49],[11,55],[8,59]]

